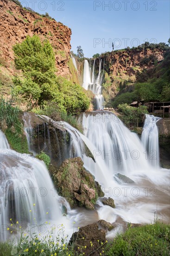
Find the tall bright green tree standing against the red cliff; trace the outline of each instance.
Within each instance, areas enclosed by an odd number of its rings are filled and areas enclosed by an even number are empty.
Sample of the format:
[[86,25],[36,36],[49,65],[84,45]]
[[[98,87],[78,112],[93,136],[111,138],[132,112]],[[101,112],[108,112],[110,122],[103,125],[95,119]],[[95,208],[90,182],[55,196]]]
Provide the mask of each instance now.
[[15,66],[21,69],[24,78],[15,78],[16,92],[31,100],[32,105],[52,100],[57,90],[55,57],[48,40],[41,43],[38,36],[27,36],[13,47]]

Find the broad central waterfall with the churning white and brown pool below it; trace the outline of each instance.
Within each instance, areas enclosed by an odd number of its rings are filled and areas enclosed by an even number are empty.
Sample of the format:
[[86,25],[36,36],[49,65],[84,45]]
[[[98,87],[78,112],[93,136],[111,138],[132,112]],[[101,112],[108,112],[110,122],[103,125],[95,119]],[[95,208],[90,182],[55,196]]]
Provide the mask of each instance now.
[[[132,223],[148,223],[154,221],[157,212],[159,218],[169,222],[170,172],[154,168],[148,162],[138,135],[109,112],[83,113],[79,122],[94,147],[96,163],[101,167],[95,171],[97,180],[105,196],[113,198],[116,204],[116,209],[112,209],[98,200],[100,219],[111,223],[118,218]],[[117,173],[126,175],[134,183],[115,182]]]

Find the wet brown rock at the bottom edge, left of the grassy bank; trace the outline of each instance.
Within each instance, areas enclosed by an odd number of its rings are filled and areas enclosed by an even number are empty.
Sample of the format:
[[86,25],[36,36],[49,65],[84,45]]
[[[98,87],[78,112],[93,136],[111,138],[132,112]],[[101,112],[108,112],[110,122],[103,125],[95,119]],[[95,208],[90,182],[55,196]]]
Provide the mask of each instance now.
[[[99,241],[99,242],[98,242]],[[99,229],[97,223],[87,225],[73,233],[69,241],[70,245],[74,245],[77,252],[84,253],[85,256],[99,256],[106,244],[106,233]],[[102,247],[101,243],[103,243]],[[92,244],[92,246],[91,246]],[[86,246],[86,248],[84,248]],[[78,249],[79,248],[79,249]]]

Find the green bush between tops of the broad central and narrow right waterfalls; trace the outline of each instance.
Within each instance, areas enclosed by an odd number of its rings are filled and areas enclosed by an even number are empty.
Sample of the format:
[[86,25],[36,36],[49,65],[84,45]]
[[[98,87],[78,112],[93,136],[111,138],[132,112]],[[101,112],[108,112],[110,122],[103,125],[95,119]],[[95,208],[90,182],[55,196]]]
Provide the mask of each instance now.
[[120,119],[125,123],[125,125],[135,125],[139,126],[145,120],[145,115],[147,114],[147,107],[139,106],[138,108],[130,107],[128,104],[120,104],[118,108],[122,115]]

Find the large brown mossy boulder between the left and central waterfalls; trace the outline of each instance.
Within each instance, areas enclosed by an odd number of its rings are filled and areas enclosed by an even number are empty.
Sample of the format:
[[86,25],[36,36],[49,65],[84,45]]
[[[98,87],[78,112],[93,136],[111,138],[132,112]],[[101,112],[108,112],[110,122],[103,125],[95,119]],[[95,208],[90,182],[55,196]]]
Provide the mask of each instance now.
[[50,167],[50,173],[60,195],[71,207],[94,209],[98,196],[104,196],[93,175],[85,170],[80,157],[66,159],[60,168]]

